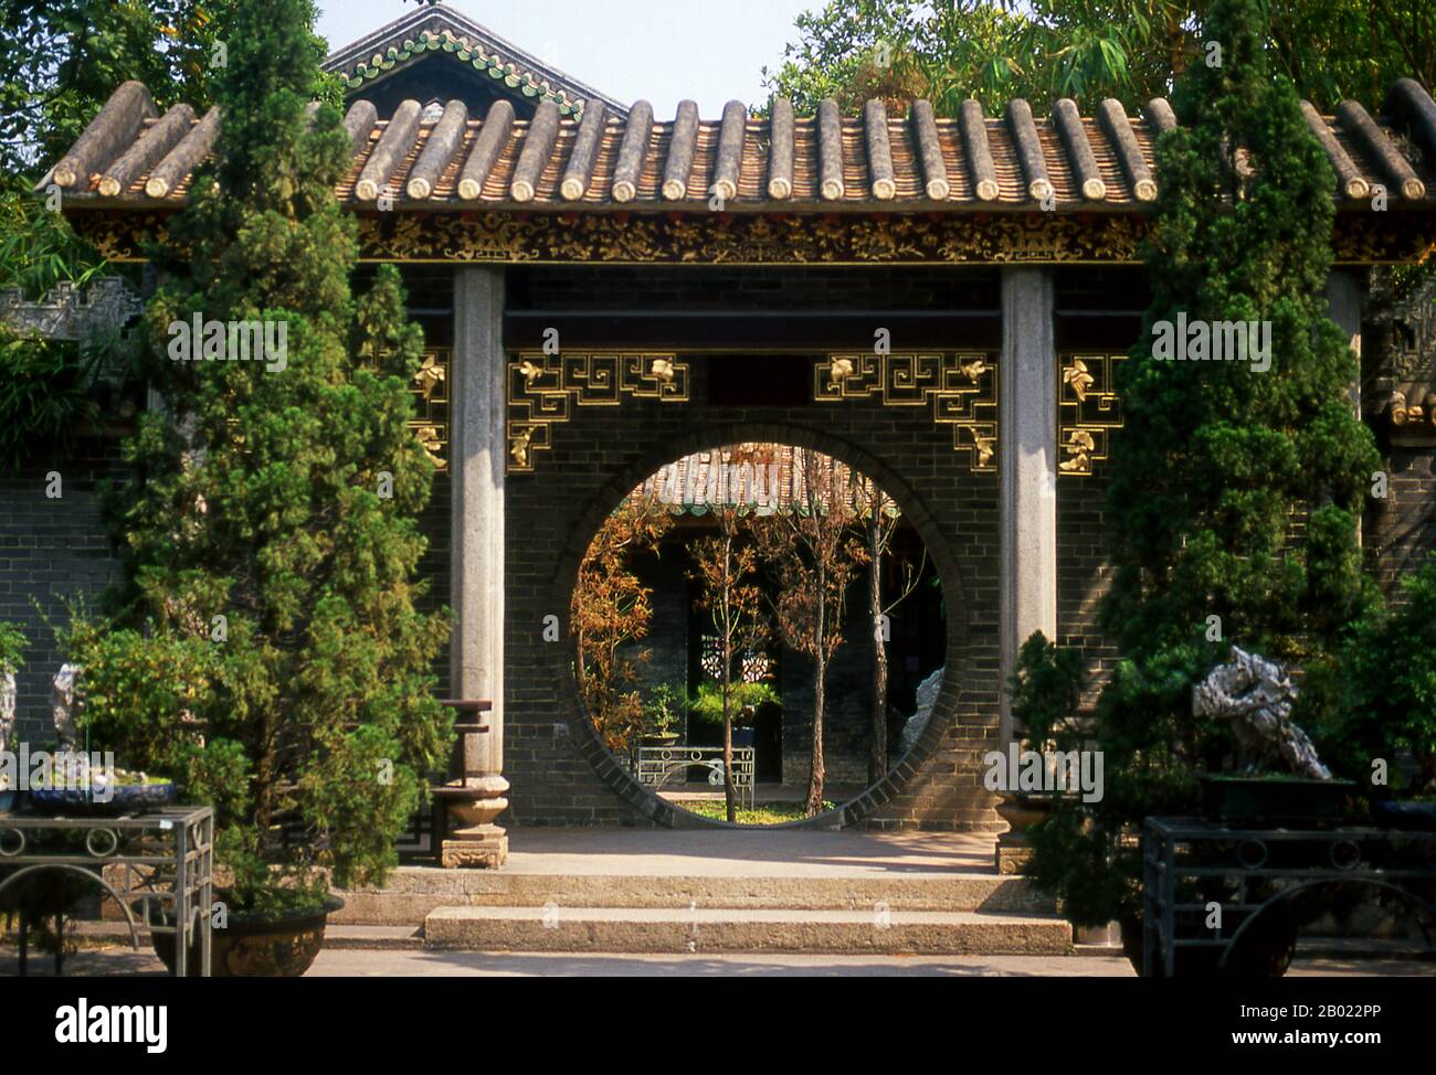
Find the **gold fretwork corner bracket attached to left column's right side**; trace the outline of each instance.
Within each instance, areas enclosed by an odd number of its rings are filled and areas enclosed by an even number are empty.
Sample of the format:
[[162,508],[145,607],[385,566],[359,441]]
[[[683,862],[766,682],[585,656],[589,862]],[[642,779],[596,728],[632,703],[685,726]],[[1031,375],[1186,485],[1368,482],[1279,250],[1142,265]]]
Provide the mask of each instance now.
[[508,474],[534,468],[553,446],[553,426],[576,406],[619,406],[625,398],[688,402],[688,363],[673,355],[517,352],[508,362]]

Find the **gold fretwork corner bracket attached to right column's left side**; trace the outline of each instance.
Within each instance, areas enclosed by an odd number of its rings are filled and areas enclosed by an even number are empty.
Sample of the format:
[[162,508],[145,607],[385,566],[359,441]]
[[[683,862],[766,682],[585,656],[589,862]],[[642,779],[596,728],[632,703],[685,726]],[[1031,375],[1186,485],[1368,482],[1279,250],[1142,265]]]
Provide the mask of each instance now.
[[932,405],[952,426],[952,449],[975,472],[997,469],[997,356],[988,352],[829,355],[813,367],[813,399],[879,399],[883,406]]

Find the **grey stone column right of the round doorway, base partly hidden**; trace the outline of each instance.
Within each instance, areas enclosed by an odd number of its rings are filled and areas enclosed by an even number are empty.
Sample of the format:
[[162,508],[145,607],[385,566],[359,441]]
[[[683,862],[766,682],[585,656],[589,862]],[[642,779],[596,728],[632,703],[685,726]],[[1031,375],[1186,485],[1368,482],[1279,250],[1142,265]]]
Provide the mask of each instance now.
[[[1005,752],[1014,739],[1007,677],[1018,650],[1035,630],[1057,639],[1057,347],[1045,268],[1002,270],[998,461],[998,746]],[[1014,873],[1025,857],[1022,817],[1004,814],[1012,830],[998,840],[998,871]]]

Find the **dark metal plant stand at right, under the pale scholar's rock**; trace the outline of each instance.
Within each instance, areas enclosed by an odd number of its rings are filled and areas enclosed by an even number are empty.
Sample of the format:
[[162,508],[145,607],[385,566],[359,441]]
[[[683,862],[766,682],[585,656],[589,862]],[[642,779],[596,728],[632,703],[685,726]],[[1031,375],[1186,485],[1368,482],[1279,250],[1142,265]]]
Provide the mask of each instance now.
[[[1337,884],[1374,886],[1416,914],[1427,947],[1436,923],[1436,832],[1390,828],[1231,828],[1147,818],[1142,973],[1176,973],[1178,949],[1216,949],[1226,969],[1244,939],[1292,901]],[[1209,927],[1211,904],[1221,911]],[[1264,920],[1264,916],[1274,916]]]

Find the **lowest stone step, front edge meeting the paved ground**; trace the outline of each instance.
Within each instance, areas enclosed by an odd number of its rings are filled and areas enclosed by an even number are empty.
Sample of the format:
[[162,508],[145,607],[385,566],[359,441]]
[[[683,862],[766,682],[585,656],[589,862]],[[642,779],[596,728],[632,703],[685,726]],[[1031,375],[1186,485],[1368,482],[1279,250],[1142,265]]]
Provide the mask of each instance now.
[[426,949],[472,952],[807,952],[1067,954],[1061,919],[972,911],[438,907]]

